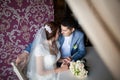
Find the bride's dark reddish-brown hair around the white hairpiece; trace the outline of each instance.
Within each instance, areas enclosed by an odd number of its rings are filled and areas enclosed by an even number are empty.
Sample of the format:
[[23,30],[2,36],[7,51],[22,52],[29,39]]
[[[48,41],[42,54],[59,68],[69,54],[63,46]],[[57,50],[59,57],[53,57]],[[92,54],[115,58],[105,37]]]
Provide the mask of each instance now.
[[49,33],[49,32],[45,29],[46,38],[47,38],[47,40],[49,40],[49,39],[51,39],[52,37],[54,37],[54,36],[56,35],[58,26],[57,26],[56,23],[53,22],[53,21],[47,22],[45,25],[48,25],[48,26],[50,27],[50,29],[51,29],[51,33]]

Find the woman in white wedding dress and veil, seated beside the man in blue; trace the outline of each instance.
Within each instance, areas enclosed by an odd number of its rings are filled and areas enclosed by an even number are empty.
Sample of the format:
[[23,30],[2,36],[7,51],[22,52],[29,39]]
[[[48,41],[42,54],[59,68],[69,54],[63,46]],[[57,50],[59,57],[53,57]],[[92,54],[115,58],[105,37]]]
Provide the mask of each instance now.
[[56,67],[60,58],[58,30],[54,22],[48,22],[36,33],[28,63],[29,80],[58,80],[57,73],[68,70],[64,63]]

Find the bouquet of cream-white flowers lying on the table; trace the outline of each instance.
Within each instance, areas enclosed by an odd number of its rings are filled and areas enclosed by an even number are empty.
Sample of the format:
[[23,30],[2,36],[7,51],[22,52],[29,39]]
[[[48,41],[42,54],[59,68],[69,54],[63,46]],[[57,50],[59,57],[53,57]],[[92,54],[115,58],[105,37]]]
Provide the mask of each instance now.
[[87,77],[88,71],[85,69],[85,65],[80,60],[77,60],[76,62],[70,62],[69,69],[74,76],[80,79]]

